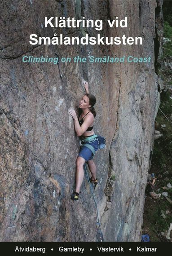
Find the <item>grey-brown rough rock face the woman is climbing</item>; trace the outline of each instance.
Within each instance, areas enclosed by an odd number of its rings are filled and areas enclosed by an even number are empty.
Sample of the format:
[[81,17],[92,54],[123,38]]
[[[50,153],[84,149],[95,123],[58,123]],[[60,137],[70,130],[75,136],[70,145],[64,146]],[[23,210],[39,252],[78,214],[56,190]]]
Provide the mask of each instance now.
[[[104,239],[140,241],[159,106],[154,67],[161,36],[156,32],[155,12],[159,18],[161,5],[155,0],[1,2],[0,241],[101,240],[86,176],[79,201],[70,199],[79,139],[68,109],[77,109],[83,78],[97,98],[94,131],[106,137],[106,149],[94,158]],[[47,29],[45,16],[103,19],[104,27],[102,31]],[[106,20],[116,16],[127,16],[128,28],[107,26]],[[29,44],[32,33],[53,37],[55,32],[142,36],[143,45]],[[62,78],[55,64],[22,62],[23,56],[55,57],[56,52],[60,57],[151,56],[151,62],[60,63]]]

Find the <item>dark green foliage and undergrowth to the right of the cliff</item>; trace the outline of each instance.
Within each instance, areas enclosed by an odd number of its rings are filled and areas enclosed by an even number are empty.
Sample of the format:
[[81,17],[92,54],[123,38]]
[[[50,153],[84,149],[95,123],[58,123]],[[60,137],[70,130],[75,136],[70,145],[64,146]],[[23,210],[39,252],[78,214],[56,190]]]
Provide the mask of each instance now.
[[[162,62],[171,62],[172,56],[172,7],[171,1],[163,1],[163,17],[164,17],[164,37],[166,41],[163,44]],[[168,87],[172,86],[172,71],[169,66],[159,68],[159,76],[163,83]],[[168,117],[168,121],[163,113],[159,110],[156,117],[156,130],[163,134],[162,137],[154,141],[154,150],[151,161],[150,173],[154,172],[156,176],[154,192],[168,192],[168,197],[172,199],[172,189],[164,190],[163,187],[168,183],[172,184],[172,96],[168,89],[161,93],[161,102],[159,108]],[[161,127],[165,124],[166,127]],[[161,174],[161,177],[159,177]],[[168,178],[168,179],[167,179]],[[159,190],[158,190],[159,189]],[[157,191],[158,190],[158,191]],[[163,210],[166,218],[161,216]],[[167,210],[169,213],[167,213]],[[144,212],[144,232],[150,235],[150,240],[153,242],[164,241],[158,234],[166,232],[172,222],[171,204],[161,196],[159,199],[146,198]]]

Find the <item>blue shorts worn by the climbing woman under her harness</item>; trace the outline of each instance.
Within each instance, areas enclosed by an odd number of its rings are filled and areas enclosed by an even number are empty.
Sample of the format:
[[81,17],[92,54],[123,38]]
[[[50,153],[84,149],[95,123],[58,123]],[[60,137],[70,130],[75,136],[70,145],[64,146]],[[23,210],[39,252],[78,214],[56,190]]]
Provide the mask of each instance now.
[[[84,144],[89,144],[91,146],[93,146],[94,150],[97,151],[98,150],[98,140],[97,138],[94,138],[93,141],[87,141]],[[85,161],[91,160],[93,159],[93,153],[90,149],[88,149],[87,147],[81,147],[80,151],[79,151],[79,155],[82,158],[85,159]]]

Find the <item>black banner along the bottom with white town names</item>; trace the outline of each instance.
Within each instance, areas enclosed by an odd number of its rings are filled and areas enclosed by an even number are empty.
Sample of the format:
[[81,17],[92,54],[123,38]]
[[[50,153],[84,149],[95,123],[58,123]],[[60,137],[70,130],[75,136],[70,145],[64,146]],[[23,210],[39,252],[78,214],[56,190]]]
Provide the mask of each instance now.
[[10,255],[155,255],[170,252],[170,242],[0,242],[1,252]]

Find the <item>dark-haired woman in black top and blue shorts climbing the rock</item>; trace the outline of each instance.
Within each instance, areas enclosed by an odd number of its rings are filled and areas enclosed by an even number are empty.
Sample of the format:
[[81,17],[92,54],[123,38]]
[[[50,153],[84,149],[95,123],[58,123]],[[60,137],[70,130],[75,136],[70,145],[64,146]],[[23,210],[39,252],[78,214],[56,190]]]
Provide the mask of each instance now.
[[98,183],[96,179],[96,165],[93,162],[93,150],[98,150],[97,135],[95,135],[93,131],[94,117],[96,116],[96,111],[93,106],[96,103],[96,98],[89,93],[88,82],[86,81],[84,81],[84,88],[86,93],[79,101],[79,119],[77,118],[75,110],[69,110],[69,114],[71,114],[74,119],[75,132],[77,136],[80,137],[83,145],[76,159],[76,188],[71,195],[72,200],[79,199],[79,191],[84,179],[83,166],[85,162],[88,163],[92,175],[90,182],[93,182],[95,185]]

